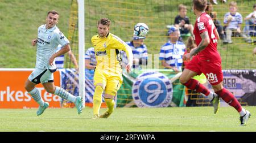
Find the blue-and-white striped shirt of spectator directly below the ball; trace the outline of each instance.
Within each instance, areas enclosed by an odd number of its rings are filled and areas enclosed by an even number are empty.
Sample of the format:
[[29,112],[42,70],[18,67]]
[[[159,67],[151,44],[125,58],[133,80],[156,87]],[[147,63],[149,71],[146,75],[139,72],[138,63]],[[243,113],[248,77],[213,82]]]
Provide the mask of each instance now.
[[[133,45],[133,41],[129,41],[126,42],[127,45],[129,45],[131,47],[131,50],[133,50],[133,58],[137,58],[137,59],[147,59],[147,46],[142,44],[139,47],[134,47]],[[122,62],[127,64],[127,55],[125,53],[125,51],[121,51],[120,52],[121,56],[122,56]],[[139,65],[135,65],[133,64],[133,68],[138,68]]]

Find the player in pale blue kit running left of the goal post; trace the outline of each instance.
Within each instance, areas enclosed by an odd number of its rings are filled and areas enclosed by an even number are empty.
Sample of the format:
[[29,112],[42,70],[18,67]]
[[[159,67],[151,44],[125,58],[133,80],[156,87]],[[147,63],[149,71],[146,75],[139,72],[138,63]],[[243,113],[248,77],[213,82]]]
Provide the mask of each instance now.
[[[40,92],[35,85],[42,83],[48,93],[56,94],[61,98],[68,99],[75,103],[77,112],[82,112],[82,98],[75,97],[65,91],[63,88],[55,86],[53,83],[53,72],[56,71],[55,58],[71,50],[68,39],[60,32],[56,24],[59,21],[59,13],[55,10],[49,11],[46,17],[46,24],[38,28],[38,38],[32,40],[32,46],[36,45],[36,68],[28,77],[25,83],[25,89],[31,94],[32,98],[39,104],[36,115],[43,114],[49,106],[44,102]],[[63,48],[55,53],[57,45]]]

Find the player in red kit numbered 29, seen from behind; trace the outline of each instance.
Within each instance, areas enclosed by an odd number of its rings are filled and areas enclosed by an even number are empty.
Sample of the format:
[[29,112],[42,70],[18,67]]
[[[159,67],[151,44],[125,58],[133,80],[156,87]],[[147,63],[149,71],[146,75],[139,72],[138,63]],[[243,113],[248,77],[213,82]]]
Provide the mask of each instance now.
[[[221,70],[221,57],[217,51],[218,32],[213,20],[205,13],[207,0],[193,0],[193,12],[196,15],[194,35],[197,47],[191,53],[185,54],[184,59],[192,58],[185,66],[180,77],[180,83],[187,88],[205,94],[213,104],[214,114],[218,111],[221,97],[230,106],[233,106],[240,114],[241,125],[246,125],[250,112],[243,109],[234,95],[222,85],[223,74]],[[204,73],[214,92],[210,92],[199,81],[192,79],[193,76]]]

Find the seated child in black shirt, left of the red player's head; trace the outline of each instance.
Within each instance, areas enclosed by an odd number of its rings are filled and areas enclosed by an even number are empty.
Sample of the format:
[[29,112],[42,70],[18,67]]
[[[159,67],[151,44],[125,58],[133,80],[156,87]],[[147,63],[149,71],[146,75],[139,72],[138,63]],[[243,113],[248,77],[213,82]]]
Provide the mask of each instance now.
[[180,30],[181,37],[193,35],[193,25],[190,24],[187,16],[187,6],[179,5],[179,15],[175,18],[174,26]]

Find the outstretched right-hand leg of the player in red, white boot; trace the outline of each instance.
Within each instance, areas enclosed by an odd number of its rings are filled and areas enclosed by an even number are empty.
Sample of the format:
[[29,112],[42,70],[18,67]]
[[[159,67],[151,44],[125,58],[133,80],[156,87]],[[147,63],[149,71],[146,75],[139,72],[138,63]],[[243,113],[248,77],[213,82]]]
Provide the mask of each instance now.
[[250,118],[250,112],[241,106],[237,98],[229,90],[226,90],[222,83],[212,86],[218,96],[239,112],[241,125],[246,125],[247,120]]

